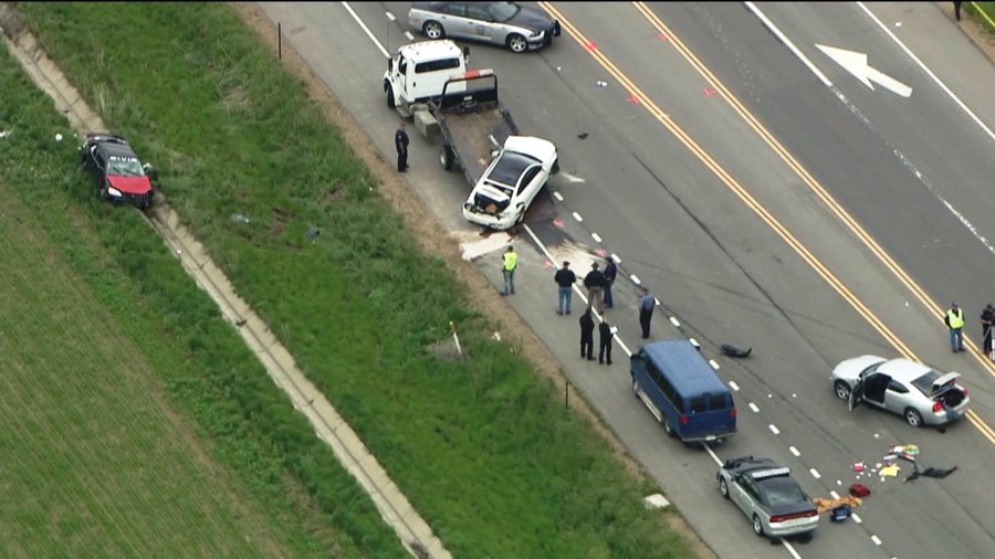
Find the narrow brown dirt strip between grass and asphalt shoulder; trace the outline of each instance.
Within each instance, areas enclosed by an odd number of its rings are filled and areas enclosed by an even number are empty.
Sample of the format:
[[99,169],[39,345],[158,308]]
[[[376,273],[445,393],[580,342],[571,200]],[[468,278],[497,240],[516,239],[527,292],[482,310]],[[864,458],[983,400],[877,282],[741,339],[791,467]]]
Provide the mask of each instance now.
[[[263,13],[262,9],[251,2],[234,2],[237,11],[250,27],[256,30],[263,42],[276,52],[276,36],[273,32],[273,22]],[[353,148],[353,151],[362,159],[380,182],[379,192],[388,200],[394,210],[404,219],[405,226],[417,240],[423,251],[442,259],[449,270],[459,281],[467,286],[472,294],[478,309],[490,317],[496,328],[502,333],[519,333],[519,336],[510,339],[512,346],[519,348],[535,366],[542,376],[553,382],[559,395],[564,395],[567,382],[566,376],[561,369],[559,361],[546,349],[527,324],[507,305],[504,299],[495,297],[494,286],[484,277],[476,267],[462,260],[459,243],[449,238],[431,220],[425,215],[430,211],[425,208],[421,200],[411,191],[408,183],[395,172],[392,162],[385,161],[380,151],[363,131],[363,128],[353,119],[353,116],[342,106],[335,95],[325,86],[324,82],[314,73],[311,66],[286,41],[282,44],[282,60],[284,65],[297,77],[304,81],[307,94],[321,107],[329,123],[341,131],[343,138]],[[511,336],[511,335],[510,335]],[[612,431],[601,422],[600,416],[583,399],[572,399],[574,411],[586,418],[594,430],[599,433],[615,453],[618,461],[633,476],[646,478],[639,463],[626,451],[621,442]],[[683,518],[675,514],[661,515],[661,519],[669,529],[680,534],[701,558],[716,557],[714,552],[702,541]]]

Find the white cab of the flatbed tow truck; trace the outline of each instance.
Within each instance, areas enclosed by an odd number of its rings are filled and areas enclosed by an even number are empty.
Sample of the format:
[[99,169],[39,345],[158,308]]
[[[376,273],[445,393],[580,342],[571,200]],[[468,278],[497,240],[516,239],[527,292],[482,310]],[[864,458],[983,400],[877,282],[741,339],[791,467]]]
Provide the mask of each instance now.
[[412,116],[425,108],[426,101],[442,95],[442,87],[450,77],[467,72],[469,59],[469,48],[460,50],[449,40],[401,46],[396,56],[387,59],[387,72],[384,73],[387,106],[397,108],[406,117]]

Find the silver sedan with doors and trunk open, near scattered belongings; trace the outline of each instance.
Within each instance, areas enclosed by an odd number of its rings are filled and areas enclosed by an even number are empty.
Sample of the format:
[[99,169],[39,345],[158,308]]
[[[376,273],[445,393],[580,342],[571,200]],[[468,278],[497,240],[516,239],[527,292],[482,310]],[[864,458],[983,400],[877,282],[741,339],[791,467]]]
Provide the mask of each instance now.
[[941,375],[904,359],[860,356],[832,369],[832,390],[850,410],[867,403],[897,413],[913,428],[942,425],[967,411],[967,389],[957,384],[959,372]]

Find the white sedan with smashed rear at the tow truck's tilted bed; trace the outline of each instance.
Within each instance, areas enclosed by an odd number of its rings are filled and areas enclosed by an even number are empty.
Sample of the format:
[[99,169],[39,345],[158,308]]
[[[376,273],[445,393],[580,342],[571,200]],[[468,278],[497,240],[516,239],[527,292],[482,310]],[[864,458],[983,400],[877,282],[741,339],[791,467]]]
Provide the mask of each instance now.
[[509,136],[463,204],[463,217],[488,229],[505,230],[525,210],[549,177],[559,172],[556,146],[530,136]]

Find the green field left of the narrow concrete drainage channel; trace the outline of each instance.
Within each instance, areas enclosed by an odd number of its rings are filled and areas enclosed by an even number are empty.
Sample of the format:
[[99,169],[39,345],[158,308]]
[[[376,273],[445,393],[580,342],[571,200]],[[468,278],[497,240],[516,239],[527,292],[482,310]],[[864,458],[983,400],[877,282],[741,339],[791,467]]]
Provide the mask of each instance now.
[[0,556],[404,557],[6,49],[0,92]]

